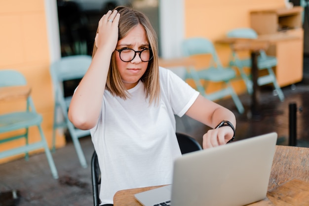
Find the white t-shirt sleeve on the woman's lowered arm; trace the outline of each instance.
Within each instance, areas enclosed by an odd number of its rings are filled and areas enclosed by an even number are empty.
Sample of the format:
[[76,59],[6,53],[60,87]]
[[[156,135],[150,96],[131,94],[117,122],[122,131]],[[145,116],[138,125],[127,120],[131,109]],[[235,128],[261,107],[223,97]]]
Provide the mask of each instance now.
[[171,70],[160,67],[162,95],[169,101],[175,115],[182,117],[193,105],[199,92]]

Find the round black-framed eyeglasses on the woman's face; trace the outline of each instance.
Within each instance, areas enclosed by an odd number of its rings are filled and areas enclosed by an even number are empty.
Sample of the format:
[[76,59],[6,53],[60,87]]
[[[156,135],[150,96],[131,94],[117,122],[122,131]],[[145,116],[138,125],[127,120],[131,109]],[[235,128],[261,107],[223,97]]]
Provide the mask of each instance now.
[[119,52],[120,59],[124,62],[132,61],[135,58],[136,53],[138,53],[143,62],[149,62],[154,57],[151,48],[144,48],[141,51],[135,51],[131,48],[122,48],[116,49],[116,51]]

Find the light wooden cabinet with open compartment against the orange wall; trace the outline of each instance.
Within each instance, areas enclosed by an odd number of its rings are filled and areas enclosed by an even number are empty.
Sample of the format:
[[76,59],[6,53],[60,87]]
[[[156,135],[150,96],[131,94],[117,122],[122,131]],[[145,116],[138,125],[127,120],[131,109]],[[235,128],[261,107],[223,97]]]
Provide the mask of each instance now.
[[284,33],[297,38],[277,41],[266,51],[277,57],[274,68],[279,85],[286,86],[303,79],[304,31],[303,7],[255,10],[250,12],[250,24],[259,35]]

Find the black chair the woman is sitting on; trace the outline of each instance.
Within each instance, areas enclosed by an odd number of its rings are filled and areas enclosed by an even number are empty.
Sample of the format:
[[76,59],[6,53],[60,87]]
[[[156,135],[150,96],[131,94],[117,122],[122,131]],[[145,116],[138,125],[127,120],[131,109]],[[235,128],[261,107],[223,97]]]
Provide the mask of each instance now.
[[[188,134],[176,132],[178,144],[181,154],[202,150],[200,144]],[[92,178],[92,194],[94,206],[99,206],[99,186],[101,184],[101,171],[98,163],[97,153],[94,151],[91,158],[91,178]]]

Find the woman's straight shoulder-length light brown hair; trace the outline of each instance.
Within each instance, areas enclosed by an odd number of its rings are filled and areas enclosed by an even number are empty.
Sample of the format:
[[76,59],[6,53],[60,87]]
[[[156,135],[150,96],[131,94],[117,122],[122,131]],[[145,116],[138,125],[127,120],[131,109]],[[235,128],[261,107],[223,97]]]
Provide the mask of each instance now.
[[[153,59],[148,62],[148,67],[145,74],[141,77],[141,81],[145,85],[146,98],[149,97],[150,103],[158,102],[160,95],[159,85],[159,66],[157,52],[157,37],[148,17],[140,11],[126,6],[117,6],[114,10],[120,13],[118,25],[118,41],[124,38],[138,24],[146,31],[146,36],[149,41],[150,48],[153,52]],[[97,30],[98,33],[98,30]],[[97,47],[94,43],[92,57],[95,55]],[[110,69],[107,76],[106,87],[114,96],[119,96],[122,99],[128,98],[127,89],[124,87],[118,67],[116,64],[115,51],[112,54]]]

